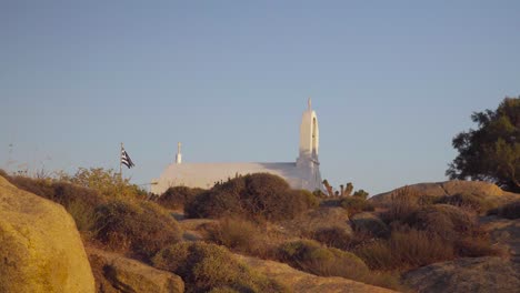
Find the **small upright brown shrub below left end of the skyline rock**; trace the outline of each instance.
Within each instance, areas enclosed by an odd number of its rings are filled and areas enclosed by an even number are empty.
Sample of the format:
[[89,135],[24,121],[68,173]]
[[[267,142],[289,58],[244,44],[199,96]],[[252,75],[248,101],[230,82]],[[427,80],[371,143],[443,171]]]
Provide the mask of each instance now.
[[381,214],[384,222],[404,221],[412,213],[419,210],[419,194],[416,190],[404,186],[390,194],[388,210]]

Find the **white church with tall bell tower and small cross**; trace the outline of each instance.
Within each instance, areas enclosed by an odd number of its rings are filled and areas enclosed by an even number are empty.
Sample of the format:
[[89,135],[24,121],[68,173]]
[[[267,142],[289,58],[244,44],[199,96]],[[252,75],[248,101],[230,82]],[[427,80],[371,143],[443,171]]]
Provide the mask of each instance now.
[[170,186],[211,189],[216,182],[252,173],[279,175],[293,189],[322,190],[318,150],[318,118],[309,98],[308,109],[301,118],[300,153],[296,162],[183,163],[179,143],[176,161],[167,166],[159,179],[152,180],[151,192],[162,194]]

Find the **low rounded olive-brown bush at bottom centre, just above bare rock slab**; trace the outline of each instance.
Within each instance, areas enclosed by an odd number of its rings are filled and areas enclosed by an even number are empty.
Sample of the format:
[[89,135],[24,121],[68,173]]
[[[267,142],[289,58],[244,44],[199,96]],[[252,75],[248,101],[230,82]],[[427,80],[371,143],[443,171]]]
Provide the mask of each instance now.
[[367,265],[354,254],[328,249],[314,241],[284,243],[279,249],[278,257],[298,270],[316,275],[360,280],[368,273]]

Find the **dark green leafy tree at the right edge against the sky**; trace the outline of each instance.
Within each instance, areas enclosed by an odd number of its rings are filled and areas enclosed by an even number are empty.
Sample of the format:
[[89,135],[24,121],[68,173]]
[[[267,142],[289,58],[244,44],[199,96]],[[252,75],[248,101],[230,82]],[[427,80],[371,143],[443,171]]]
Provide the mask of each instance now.
[[449,164],[450,179],[483,180],[520,192],[520,97],[506,98],[496,111],[474,112],[470,129],[453,138],[459,155]]

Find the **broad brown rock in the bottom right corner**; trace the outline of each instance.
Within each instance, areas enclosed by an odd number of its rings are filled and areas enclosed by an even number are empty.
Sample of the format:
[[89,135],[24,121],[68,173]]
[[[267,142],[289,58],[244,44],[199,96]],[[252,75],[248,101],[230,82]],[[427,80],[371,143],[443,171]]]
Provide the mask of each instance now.
[[417,292],[520,292],[520,267],[500,257],[459,259],[408,272],[407,285]]

